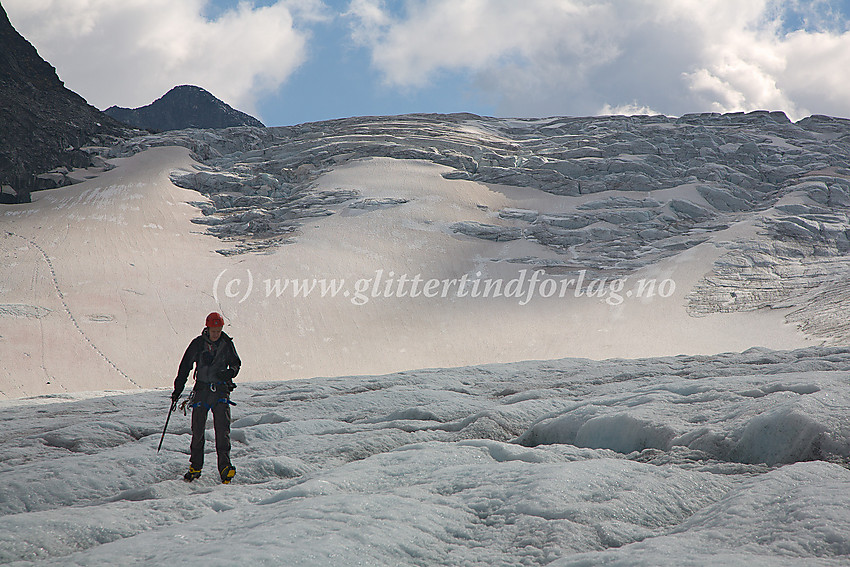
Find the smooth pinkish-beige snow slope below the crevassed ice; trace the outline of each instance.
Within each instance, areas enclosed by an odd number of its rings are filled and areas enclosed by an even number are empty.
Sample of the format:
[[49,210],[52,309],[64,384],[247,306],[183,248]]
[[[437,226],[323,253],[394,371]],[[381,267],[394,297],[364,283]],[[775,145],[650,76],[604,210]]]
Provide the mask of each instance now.
[[[197,208],[212,201],[169,181],[198,167],[188,150],[152,148],[114,164],[3,216],[7,397],[165,386],[210,311],[228,322],[243,381],[810,344],[781,310],[692,317],[687,294],[722,252],[712,246],[615,276],[558,264],[540,243],[452,229],[530,199],[567,210],[582,202],[574,197],[446,179],[449,168],[421,160],[355,160],[293,195],[280,217],[300,225],[291,244],[225,255],[203,231],[220,213]],[[245,225],[269,199],[213,198],[231,200]],[[641,280],[658,289],[642,293]]]

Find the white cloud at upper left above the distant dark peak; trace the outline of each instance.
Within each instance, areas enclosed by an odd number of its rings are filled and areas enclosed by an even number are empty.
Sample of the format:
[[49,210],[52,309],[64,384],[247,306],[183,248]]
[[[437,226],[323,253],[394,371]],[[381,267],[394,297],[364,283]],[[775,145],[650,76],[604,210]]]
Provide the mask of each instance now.
[[205,0],[3,0],[16,29],[91,104],[136,107],[178,84],[201,86],[255,111],[306,58],[298,19],[319,0],[241,2],[215,20]]

